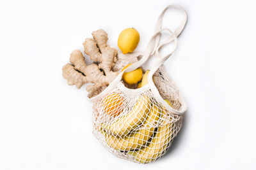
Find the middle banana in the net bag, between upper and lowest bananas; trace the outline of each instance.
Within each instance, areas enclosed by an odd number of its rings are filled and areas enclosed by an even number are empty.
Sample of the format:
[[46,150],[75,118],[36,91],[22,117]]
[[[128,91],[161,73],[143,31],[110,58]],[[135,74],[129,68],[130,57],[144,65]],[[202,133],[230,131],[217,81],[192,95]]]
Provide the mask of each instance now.
[[124,138],[106,134],[106,141],[108,145],[115,150],[123,151],[130,151],[143,147],[154,133],[154,127],[152,127],[152,125],[154,125],[159,119],[160,111],[161,110],[159,110],[156,105],[152,106],[145,122],[143,123],[143,127]]

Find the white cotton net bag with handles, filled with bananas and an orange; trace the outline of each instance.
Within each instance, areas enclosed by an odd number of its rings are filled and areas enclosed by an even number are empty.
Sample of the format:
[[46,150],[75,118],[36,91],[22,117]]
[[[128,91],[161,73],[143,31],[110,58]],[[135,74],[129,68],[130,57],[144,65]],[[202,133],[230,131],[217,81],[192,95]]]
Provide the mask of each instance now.
[[[161,28],[168,8],[178,8],[185,13],[184,20],[174,32]],[[140,163],[154,162],[166,153],[177,136],[186,103],[163,63],[174,52],[177,36],[184,29],[186,20],[187,14],[182,7],[167,6],[157,20],[155,34],[141,59],[118,74],[98,96],[90,99],[93,103],[93,134],[116,157]],[[163,31],[167,31],[170,37],[159,43]],[[161,57],[159,49],[168,43],[173,43],[173,50]],[[148,63],[152,66],[148,67]],[[143,76],[142,87],[128,89],[122,82],[122,74],[138,67],[149,68]]]

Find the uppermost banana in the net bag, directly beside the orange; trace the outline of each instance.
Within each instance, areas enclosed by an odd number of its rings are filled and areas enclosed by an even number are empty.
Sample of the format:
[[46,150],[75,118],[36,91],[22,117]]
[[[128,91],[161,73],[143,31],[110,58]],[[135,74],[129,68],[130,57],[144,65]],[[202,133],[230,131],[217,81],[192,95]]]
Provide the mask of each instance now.
[[[148,83],[148,77],[145,76],[148,74],[147,71],[142,80],[141,80],[141,87]],[[104,131],[109,132],[113,135],[123,136],[128,134],[130,131],[138,127],[147,116],[147,113],[150,108],[150,99],[148,96],[140,96],[136,104],[132,108],[130,113],[118,118],[116,122],[113,122],[111,125],[102,125],[102,129]]]

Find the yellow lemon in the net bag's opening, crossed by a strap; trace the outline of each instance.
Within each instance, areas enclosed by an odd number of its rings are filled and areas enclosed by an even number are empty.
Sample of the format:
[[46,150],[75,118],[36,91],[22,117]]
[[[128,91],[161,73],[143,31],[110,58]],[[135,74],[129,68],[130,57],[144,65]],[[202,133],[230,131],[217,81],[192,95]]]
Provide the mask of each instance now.
[[[122,69],[122,71],[124,71],[124,69],[126,69],[129,66],[131,66],[131,64],[128,64],[127,66],[125,66]],[[135,69],[134,71],[124,73],[122,80],[124,80],[125,83],[127,83],[129,85],[134,85],[141,80],[142,74],[143,74],[142,69],[140,67],[138,67],[138,69]]]

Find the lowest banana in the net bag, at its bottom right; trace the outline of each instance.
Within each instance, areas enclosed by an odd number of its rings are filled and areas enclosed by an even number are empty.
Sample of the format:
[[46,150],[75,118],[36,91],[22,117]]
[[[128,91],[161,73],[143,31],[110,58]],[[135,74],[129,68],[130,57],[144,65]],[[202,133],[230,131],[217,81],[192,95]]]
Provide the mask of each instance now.
[[[163,110],[163,115],[164,114],[166,113]],[[163,151],[165,151],[166,147],[170,143],[173,133],[172,129],[172,123],[158,127],[154,138],[150,141],[150,144],[147,147],[136,152],[128,152],[128,154],[133,155],[138,162],[143,164],[153,162]]]

